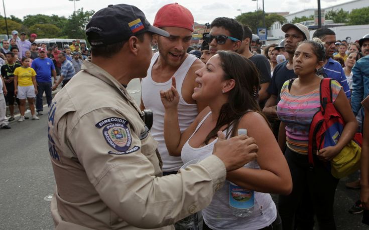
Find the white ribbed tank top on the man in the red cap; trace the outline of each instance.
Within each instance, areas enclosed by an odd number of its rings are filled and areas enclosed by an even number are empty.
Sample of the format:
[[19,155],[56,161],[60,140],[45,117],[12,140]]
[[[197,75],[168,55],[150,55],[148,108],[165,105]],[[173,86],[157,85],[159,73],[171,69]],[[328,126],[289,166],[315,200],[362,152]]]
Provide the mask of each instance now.
[[[151,64],[148,69],[148,75],[141,81],[141,97],[146,109],[151,109],[154,113],[153,127],[151,128],[151,135],[156,141],[159,142],[158,150],[163,160],[163,171],[172,172],[178,171],[183,165],[181,157],[170,156],[164,141],[164,106],[160,99],[160,90],[170,89],[172,86],[172,80],[167,82],[158,83],[154,82],[151,72],[154,63],[159,57],[159,52],[155,53],[151,59]],[[183,132],[190,124],[195,120],[198,112],[196,104],[188,104],[182,97],[182,83],[185,79],[188,70],[196,61],[196,57],[188,55],[182,65],[174,73],[177,83],[177,90],[179,94],[178,104],[178,122],[179,129]]]

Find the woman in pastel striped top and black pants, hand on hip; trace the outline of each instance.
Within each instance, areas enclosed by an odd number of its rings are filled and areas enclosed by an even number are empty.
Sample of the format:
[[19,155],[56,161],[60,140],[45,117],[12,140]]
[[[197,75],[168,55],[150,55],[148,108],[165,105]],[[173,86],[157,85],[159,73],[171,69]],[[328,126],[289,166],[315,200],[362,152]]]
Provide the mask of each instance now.
[[[336,229],[333,201],[338,179],[331,175],[324,163],[336,156],[352,139],[357,122],[342,87],[337,81],[332,81],[333,104],[346,125],[337,145],[317,152],[314,155],[315,166],[310,167],[307,155],[309,127],[314,114],[320,109],[319,85],[323,77],[317,72],[324,61],[325,48],[320,40],[300,43],[293,58],[293,68],[298,78],[291,83],[285,82],[277,106],[281,120],[278,142],[281,149],[286,149],[285,157],[293,182],[292,193],[279,196],[278,210],[283,229],[293,229],[294,215],[301,202],[312,204],[319,229]],[[305,206],[303,208],[308,209]]]

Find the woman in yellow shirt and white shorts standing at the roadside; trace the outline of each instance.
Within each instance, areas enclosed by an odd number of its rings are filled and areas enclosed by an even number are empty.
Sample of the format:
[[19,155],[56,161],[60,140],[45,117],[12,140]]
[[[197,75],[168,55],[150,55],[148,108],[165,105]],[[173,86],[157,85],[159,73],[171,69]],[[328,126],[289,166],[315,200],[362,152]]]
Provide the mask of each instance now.
[[21,117],[18,122],[25,120],[24,114],[26,110],[26,98],[28,104],[30,105],[30,110],[32,114],[32,120],[40,119],[35,115],[35,104],[34,98],[37,94],[36,85],[36,72],[34,69],[29,67],[30,59],[27,57],[22,58],[22,66],[18,67],[14,71],[14,94],[20,101],[19,110],[21,112]]

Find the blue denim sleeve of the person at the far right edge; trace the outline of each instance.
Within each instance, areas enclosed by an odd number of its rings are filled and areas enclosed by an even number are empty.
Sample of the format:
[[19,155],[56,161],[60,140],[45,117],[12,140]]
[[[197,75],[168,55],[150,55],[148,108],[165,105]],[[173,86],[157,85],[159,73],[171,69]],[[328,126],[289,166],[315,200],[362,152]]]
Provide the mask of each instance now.
[[364,79],[361,72],[361,63],[356,62],[352,68],[352,98],[351,108],[353,114],[356,116],[361,108],[361,100],[364,97]]

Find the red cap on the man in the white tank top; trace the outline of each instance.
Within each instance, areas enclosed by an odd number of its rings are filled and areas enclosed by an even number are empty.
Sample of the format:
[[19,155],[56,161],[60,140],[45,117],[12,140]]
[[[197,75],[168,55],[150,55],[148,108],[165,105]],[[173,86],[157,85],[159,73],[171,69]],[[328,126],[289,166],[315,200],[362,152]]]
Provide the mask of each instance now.
[[178,3],[168,4],[156,13],[155,27],[180,27],[193,32],[194,19],[191,12]]

